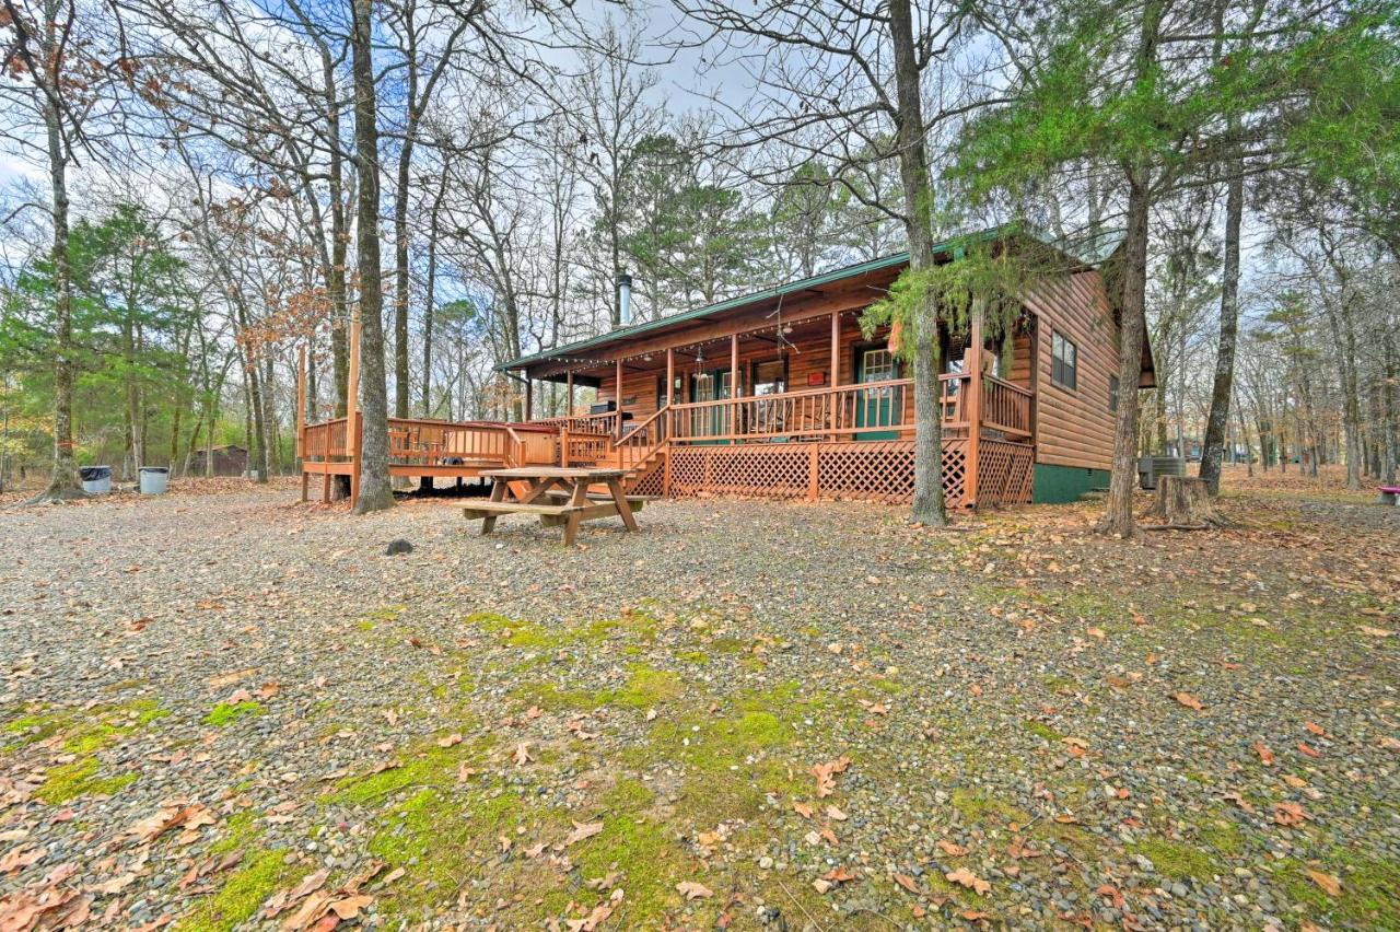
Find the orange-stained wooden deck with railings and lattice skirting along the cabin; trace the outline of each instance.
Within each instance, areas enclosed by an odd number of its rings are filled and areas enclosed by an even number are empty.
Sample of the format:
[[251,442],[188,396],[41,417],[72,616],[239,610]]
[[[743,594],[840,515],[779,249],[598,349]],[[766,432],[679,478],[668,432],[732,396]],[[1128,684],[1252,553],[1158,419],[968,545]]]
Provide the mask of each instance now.
[[[357,346],[357,333],[351,340]],[[350,357],[351,389],[358,383],[357,355]],[[951,508],[1029,502],[1032,494],[1035,395],[983,371],[980,360],[969,348],[963,372],[939,376],[944,497]],[[673,381],[671,354],[665,378]],[[524,424],[391,417],[389,473],[480,479],[526,466],[616,469],[627,494],[906,504],[914,494],[913,395],[913,379],[896,378],[662,403],[636,421],[616,411]],[[332,476],[349,476],[356,497],[358,411],[307,424],[300,417],[304,393],[298,400],[302,500],[312,476],[322,477],[323,501]]]

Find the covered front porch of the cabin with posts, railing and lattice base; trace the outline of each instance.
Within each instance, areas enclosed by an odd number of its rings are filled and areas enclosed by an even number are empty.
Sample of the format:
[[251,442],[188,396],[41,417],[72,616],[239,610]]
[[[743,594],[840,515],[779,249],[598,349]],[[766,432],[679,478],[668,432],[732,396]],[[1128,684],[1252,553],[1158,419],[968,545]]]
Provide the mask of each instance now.
[[[542,358],[522,372],[526,411],[539,381],[563,383],[567,409],[531,423],[559,430],[560,465],[622,467],[638,494],[907,502],[913,379],[886,330],[862,334],[869,299],[855,292],[836,309],[791,316],[760,306],[622,341],[610,358]],[[1030,501],[1033,340],[1032,316],[1000,341],[976,323],[962,339],[942,333],[951,507]],[[581,388],[594,389],[587,410],[574,403]]]

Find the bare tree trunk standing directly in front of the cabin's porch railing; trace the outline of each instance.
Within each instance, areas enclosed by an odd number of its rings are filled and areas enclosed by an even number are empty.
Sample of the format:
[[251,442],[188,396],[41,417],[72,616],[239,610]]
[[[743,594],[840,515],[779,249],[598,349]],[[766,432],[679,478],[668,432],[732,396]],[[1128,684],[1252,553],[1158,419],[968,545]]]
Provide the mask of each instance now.
[[[899,175],[904,188],[904,231],[909,236],[909,267],[918,273],[934,263],[934,220],[918,57],[909,0],[890,0],[889,18],[899,101],[896,144]],[[914,502],[910,516],[942,528],[948,523],[948,512],[944,509],[944,438],[938,402],[938,308],[931,295],[914,311],[910,323],[914,340]],[[834,381],[834,372],[832,378]]]

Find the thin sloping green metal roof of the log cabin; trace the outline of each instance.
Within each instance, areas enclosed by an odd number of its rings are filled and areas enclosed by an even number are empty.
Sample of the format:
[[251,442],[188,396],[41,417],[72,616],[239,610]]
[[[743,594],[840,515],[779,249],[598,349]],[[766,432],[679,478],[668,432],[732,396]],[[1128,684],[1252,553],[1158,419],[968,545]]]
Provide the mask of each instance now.
[[[942,252],[949,252],[951,249],[955,249],[958,245],[966,243],[969,241],[990,241],[1014,235],[1037,239],[1091,266],[1098,264],[1099,262],[1106,259],[1107,255],[1112,253],[1113,249],[1117,246],[1117,242],[1121,241],[1121,236],[1119,235],[1117,239],[1113,242],[1113,246],[1105,249],[1103,242],[1106,242],[1106,239],[1100,236],[1099,241],[1095,242],[1092,248],[1088,250],[1089,255],[1077,255],[1082,252],[1082,248],[1081,249],[1071,248],[1070,243],[1053,241],[1044,234],[1028,230],[1025,227],[1001,225],[1001,227],[991,227],[988,230],[981,230],[973,234],[960,234],[958,236],[951,236],[944,242],[937,243],[932,252],[937,255]],[[602,333],[595,337],[588,337],[587,340],[577,340],[574,343],[566,343],[564,346],[557,346],[550,350],[540,350],[539,353],[524,355],[518,360],[511,360],[510,362],[503,362],[501,365],[496,367],[496,371],[504,372],[507,369],[528,368],[536,362],[545,362],[547,360],[573,355],[574,353],[589,350],[602,346],[605,343],[612,343],[615,340],[627,340],[636,336],[641,336],[644,333],[651,333],[652,330],[669,327],[676,323],[686,323],[687,320],[706,318],[711,313],[724,313],[725,311],[734,311],[736,308],[748,306],[750,304],[759,304],[762,301],[769,301],[773,298],[790,295],[795,291],[806,291],[809,288],[816,288],[818,285],[830,284],[841,278],[853,278],[855,276],[861,276],[869,271],[879,271],[882,269],[892,269],[907,263],[909,263],[909,252],[906,250],[895,253],[892,256],[885,256],[882,259],[871,259],[869,262],[861,262],[853,266],[833,269],[832,271],[825,271],[819,276],[812,276],[809,278],[798,278],[797,281],[788,281],[787,284],[774,285],[771,288],[764,288],[762,291],[753,291],[745,295],[739,295],[736,298],[729,298],[728,301],[720,301],[718,304],[707,304],[703,308],[696,308],[694,311],[685,311],[682,313],[673,313],[666,318],[658,318],[657,320],[634,323],[627,327],[619,327],[617,330],[609,330],[608,333]]]

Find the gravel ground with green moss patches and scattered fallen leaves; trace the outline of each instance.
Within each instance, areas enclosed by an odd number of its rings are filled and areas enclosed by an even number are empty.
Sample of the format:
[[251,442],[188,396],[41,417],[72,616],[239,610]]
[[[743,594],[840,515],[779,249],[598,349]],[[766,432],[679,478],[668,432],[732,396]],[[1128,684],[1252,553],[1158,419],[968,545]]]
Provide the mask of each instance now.
[[1400,509],[199,490],[0,511],[0,928],[1400,928]]

